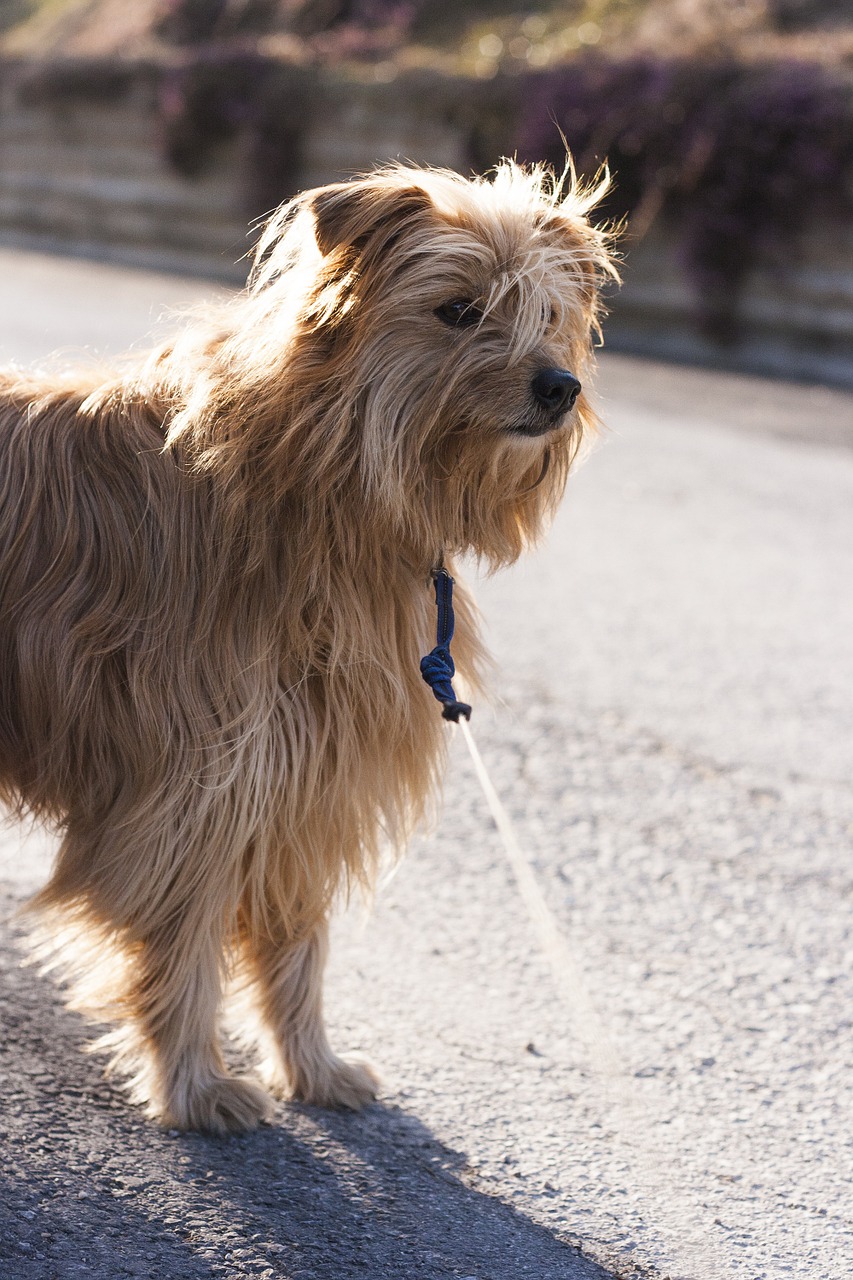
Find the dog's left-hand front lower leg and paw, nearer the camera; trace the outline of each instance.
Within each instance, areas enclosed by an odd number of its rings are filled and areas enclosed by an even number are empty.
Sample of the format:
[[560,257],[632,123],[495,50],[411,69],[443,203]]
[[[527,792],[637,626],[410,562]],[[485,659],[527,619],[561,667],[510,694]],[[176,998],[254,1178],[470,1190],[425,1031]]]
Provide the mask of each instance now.
[[178,1129],[236,1133],[270,1112],[266,1093],[229,1075],[222,1059],[222,956],[218,931],[190,915],[141,945],[129,993],[143,1062],[136,1089],[154,1116]]

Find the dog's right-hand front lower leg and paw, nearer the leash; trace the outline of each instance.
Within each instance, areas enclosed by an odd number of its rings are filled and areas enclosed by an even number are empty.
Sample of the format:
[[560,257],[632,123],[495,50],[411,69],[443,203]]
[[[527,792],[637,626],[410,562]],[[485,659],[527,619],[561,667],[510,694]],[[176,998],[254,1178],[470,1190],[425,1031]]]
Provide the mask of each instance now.
[[377,1096],[378,1080],[360,1061],[337,1057],[323,1021],[323,969],[328,925],[298,941],[269,934],[245,940],[260,1000],[269,1056],[264,1076],[273,1092],[323,1107],[357,1111]]

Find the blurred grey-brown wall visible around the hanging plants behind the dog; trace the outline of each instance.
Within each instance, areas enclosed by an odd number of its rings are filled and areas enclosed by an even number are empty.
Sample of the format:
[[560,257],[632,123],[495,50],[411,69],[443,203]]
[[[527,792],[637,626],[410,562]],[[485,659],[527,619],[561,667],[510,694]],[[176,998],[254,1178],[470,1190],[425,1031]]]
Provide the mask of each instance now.
[[[409,77],[346,83],[318,76],[302,133],[300,187],[393,157],[471,166],[471,108],[452,82]],[[141,77],[114,102],[24,105],[0,88],[0,239],[241,280],[250,244],[247,173],[238,142],[200,177],[165,164],[155,88]],[[702,364],[853,385],[853,229],[806,238],[802,260],[753,273],[727,346],[698,324],[671,229],[626,244],[625,287],[610,346]]]

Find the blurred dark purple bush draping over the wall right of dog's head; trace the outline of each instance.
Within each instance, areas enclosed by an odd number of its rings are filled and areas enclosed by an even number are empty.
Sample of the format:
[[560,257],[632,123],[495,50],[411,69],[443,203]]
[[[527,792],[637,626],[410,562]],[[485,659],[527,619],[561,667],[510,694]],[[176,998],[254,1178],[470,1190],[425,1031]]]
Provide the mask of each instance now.
[[669,215],[711,332],[751,266],[797,253],[817,219],[853,219],[853,76],[816,61],[587,55],[530,83],[519,154],[607,160],[629,234]]

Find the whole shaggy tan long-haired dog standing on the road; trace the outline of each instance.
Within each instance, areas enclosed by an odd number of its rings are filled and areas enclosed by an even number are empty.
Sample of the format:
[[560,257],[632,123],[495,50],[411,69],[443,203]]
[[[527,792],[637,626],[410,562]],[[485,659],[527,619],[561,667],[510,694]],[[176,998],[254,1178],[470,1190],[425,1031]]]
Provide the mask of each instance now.
[[59,828],[33,906],[165,1124],[269,1111],[223,1062],[227,979],[273,1092],[375,1093],[327,1041],[327,919],[439,776],[430,573],[514,561],[593,425],[599,193],[508,161],[310,191],[143,361],[0,374],[1,799]]

